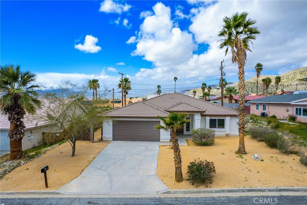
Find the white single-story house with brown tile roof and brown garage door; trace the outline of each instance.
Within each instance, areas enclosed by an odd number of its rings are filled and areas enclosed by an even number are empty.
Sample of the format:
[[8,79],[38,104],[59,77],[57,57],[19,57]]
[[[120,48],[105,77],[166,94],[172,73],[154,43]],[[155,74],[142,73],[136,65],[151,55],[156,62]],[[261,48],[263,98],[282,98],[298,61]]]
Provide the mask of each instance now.
[[239,135],[237,111],[185,94],[168,93],[105,112],[110,119],[103,123],[102,138],[169,142],[170,131],[156,130],[155,125],[162,124],[158,115],[167,117],[170,112],[187,113],[190,119],[177,134],[190,135],[191,129],[206,127],[214,129],[216,136]]

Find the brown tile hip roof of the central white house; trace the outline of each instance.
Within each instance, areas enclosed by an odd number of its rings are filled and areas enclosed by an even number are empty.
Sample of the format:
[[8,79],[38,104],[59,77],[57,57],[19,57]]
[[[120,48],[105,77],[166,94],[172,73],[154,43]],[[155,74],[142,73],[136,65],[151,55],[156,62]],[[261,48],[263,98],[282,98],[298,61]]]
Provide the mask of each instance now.
[[110,117],[166,117],[167,111],[201,112],[202,115],[237,115],[237,111],[181,93],[166,93],[131,103],[105,114]]

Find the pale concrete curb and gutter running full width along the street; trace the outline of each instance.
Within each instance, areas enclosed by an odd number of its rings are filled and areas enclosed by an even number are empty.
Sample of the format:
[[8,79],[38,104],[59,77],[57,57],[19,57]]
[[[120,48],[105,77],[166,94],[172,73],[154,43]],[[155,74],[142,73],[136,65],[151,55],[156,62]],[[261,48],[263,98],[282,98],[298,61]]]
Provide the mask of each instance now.
[[[212,194],[212,193],[242,193],[242,192],[307,192],[307,187],[256,187],[256,188],[226,188],[226,189],[173,189],[161,191],[152,195],[164,194]],[[2,191],[0,195],[76,195],[57,190],[50,191]],[[88,195],[78,193],[78,195]],[[90,194],[95,195],[95,194]],[[101,194],[99,194],[101,195]],[[110,195],[110,194],[107,194]],[[113,195],[150,195],[150,194],[113,194]]]

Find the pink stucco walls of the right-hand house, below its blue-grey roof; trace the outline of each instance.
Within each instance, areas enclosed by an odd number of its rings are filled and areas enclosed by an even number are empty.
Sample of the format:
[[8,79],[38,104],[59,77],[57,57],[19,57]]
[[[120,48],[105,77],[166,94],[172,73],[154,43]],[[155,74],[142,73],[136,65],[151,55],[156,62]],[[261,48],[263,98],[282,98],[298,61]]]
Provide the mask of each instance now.
[[[307,100],[305,100],[307,101]],[[300,101],[304,103],[305,101]],[[256,104],[259,104],[259,110],[256,110]],[[266,104],[266,111],[262,110],[263,104]],[[291,103],[251,103],[251,114],[261,115],[262,112],[266,112],[267,116],[275,115],[278,119],[288,117],[289,115],[295,115],[295,108],[302,107],[307,108],[307,105],[303,104],[291,104]],[[302,123],[307,123],[307,117],[296,116],[296,120]]]

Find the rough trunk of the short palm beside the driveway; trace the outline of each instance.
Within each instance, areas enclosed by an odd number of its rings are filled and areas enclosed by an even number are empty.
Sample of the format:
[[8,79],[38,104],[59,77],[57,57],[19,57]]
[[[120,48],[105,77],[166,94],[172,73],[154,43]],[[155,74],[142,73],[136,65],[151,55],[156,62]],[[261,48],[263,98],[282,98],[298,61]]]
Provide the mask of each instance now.
[[182,162],[181,162],[179,143],[176,137],[176,130],[172,131],[172,147],[174,151],[175,181],[182,182],[183,181],[182,170],[181,170]]

